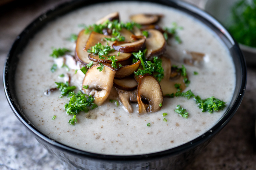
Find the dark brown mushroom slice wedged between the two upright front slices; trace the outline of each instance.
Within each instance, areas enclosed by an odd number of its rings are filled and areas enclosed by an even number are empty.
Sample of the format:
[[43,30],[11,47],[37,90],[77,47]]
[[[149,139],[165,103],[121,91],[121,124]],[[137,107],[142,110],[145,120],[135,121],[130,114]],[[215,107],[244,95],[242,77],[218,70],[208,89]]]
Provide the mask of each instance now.
[[123,79],[114,79],[114,86],[122,90],[134,90],[137,88],[137,82],[133,77]]

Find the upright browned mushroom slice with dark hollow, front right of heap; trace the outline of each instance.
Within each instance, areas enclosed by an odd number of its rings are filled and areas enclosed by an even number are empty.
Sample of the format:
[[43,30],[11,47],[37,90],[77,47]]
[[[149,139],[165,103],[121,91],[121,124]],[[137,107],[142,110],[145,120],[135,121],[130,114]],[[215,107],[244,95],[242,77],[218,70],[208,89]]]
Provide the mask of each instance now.
[[156,112],[161,109],[163,93],[159,82],[150,75],[139,76],[137,101],[139,113]]

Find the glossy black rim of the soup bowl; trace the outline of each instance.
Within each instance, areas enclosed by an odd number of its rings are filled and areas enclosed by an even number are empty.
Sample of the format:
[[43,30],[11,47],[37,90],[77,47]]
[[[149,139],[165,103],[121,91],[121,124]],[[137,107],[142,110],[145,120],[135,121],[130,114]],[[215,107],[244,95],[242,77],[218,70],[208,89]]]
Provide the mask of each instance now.
[[[111,1],[117,1],[117,0],[111,0]],[[146,1],[146,0],[139,0],[139,1]],[[74,149],[72,147],[63,145],[59,142],[56,142],[55,140],[49,139],[46,135],[42,134],[35,127],[31,126],[30,122],[20,112],[18,102],[16,101],[14,85],[11,85],[13,84],[12,81],[14,80],[13,78],[14,75],[10,75],[9,72],[11,73],[15,72],[17,62],[14,62],[12,66],[10,65],[10,63],[13,63],[13,59],[19,54],[19,52],[22,51],[22,48],[26,46],[28,39],[33,37],[33,35],[36,32],[38,32],[40,28],[44,26],[45,23],[48,23],[49,21],[54,20],[56,17],[67,14],[68,12],[78,9],[80,7],[85,7],[91,4],[97,4],[102,2],[104,1],[103,0],[94,0],[93,2],[88,0],[68,1],[66,3],[59,5],[58,7],[51,8],[46,13],[43,13],[41,16],[36,18],[31,24],[29,24],[19,36],[17,36],[16,40],[12,45],[12,48],[9,51],[9,54],[7,55],[7,60],[4,67],[3,82],[4,82],[4,90],[6,93],[6,98],[14,114],[20,120],[20,122],[23,125],[25,125],[26,128],[29,129],[30,132],[32,132],[34,135],[40,137],[40,139],[42,139],[43,141],[47,142],[48,144],[56,148],[64,150],[65,152],[68,152],[68,153],[79,154],[81,156],[102,159],[102,160],[138,160],[138,159],[147,160],[147,159],[154,159],[154,158],[159,158],[167,155],[184,153],[189,149],[195,148],[198,145],[206,142],[207,140],[210,140],[214,135],[216,135],[216,133],[218,133],[222,128],[224,128],[224,126],[234,116],[234,113],[236,112],[240,103],[242,102],[242,98],[246,88],[247,77],[246,77],[246,64],[244,61],[244,57],[234,38],[228,33],[228,31],[223,26],[221,26],[221,24],[216,19],[214,19],[212,16],[210,16],[210,14],[206,13],[205,11],[202,11],[199,8],[192,6],[191,4],[188,4],[179,0],[159,0],[159,1],[149,0],[147,2],[163,4],[168,7],[173,7],[197,18],[206,26],[212,27],[217,30],[216,32],[221,33],[222,35],[219,35],[219,36],[224,36],[227,39],[227,41],[229,41],[229,43],[232,45],[232,48],[234,48],[234,51],[236,51],[236,53],[239,55],[239,58],[237,59],[237,62],[239,62],[240,64],[238,67],[241,68],[240,74],[239,74],[241,79],[241,82],[239,82],[239,90],[237,91],[237,95],[234,94],[233,96],[234,102],[231,102],[233,104],[232,105],[230,104],[231,105],[229,106],[230,108],[226,111],[224,116],[217,122],[217,124],[213,126],[213,128],[211,128],[204,134],[200,135],[199,137],[187,143],[184,143],[180,146],[163,150],[160,152],[139,154],[139,155],[107,155],[107,154],[86,152],[83,150]],[[25,45],[23,42],[25,42]]]

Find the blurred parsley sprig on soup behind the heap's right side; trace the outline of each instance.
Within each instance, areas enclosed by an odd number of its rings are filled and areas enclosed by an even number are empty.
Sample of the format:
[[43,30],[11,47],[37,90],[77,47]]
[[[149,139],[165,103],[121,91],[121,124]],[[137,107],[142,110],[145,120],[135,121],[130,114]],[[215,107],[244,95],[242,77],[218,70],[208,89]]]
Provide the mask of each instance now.
[[163,33],[163,37],[165,37],[165,40],[167,41],[169,38],[169,35],[173,36],[175,38],[175,41],[177,44],[181,44],[181,38],[177,34],[177,30],[183,30],[183,27],[179,27],[177,23],[172,23],[171,28],[164,27],[163,30],[165,31]]

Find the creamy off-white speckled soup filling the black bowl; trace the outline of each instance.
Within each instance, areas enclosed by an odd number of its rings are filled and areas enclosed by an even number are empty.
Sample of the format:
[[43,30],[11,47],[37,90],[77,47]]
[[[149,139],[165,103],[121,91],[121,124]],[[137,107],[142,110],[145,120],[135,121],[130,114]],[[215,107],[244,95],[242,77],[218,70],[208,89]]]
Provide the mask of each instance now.
[[[77,115],[78,123],[69,125],[71,115],[65,113],[64,105],[69,98],[59,98],[60,92],[45,96],[43,92],[54,82],[63,81],[58,78],[67,72],[65,68],[52,73],[50,68],[54,60],[49,57],[52,47],[74,50],[75,45],[66,40],[71,33],[79,33],[78,24],[93,24],[108,13],[119,11],[122,21],[129,21],[130,14],[160,13],[164,17],[161,26],[171,27],[172,22],[182,26],[178,35],[182,44],[169,41],[171,47],[167,52],[172,56],[172,64],[181,66],[187,57],[183,50],[197,51],[207,54],[200,67],[185,65],[191,89],[201,98],[215,96],[229,105],[235,84],[233,61],[224,44],[215,38],[196,19],[175,9],[150,3],[118,2],[105,3],[82,8],[49,23],[30,40],[20,55],[16,72],[16,91],[18,101],[25,116],[42,133],[65,145],[89,152],[103,154],[142,154],[169,149],[192,140],[209,130],[223,115],[225,110],[209,114],[201,112],[193,99],[183,97],[164,98],[159,112],[139,115],[136,104],[134,113],[127,113],[120,106],[110,103],[109,97],[104,105]],[[71,54],[74,51],[71,52]],[[194,75],[197,71],[199,74]],[[69,71],[74,74],[74,70]],[[75,75],[78,76],[78,75]],[[81,81],[83,77],[81,78]],[[71,79],[71,85],[81,89],[82,82]],[[176,105],[181,105],[189,112],[188,119],[174,112]],[[168,113],[163,117],[162,113]],[[56,118],[52,120],[52,117]],[[167,119],[167,122],[163,121]],[[146,126],[150,123],[150,127]]]

